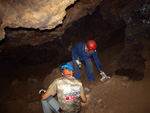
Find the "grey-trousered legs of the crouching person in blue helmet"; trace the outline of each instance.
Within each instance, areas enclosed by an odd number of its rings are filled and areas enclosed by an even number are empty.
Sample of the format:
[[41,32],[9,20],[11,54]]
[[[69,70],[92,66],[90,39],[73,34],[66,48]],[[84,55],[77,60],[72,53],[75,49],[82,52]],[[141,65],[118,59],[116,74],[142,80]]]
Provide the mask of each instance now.
[[44,113],[52,113],[54,111],[55,113],[59,113],[59,103],[52,97],[50,96],[46,100],[41,100],[42,101],[42,106],[43,106],[43,111]]

